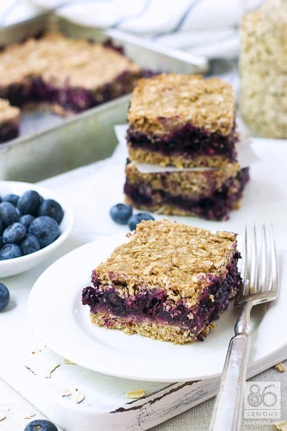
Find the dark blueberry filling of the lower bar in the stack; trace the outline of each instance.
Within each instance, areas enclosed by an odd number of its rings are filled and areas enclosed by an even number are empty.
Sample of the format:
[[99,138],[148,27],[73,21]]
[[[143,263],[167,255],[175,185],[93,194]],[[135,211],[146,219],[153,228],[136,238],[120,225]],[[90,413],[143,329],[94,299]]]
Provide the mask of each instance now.
[[187,199],[180,195],[170,195],[164,190],[153,190],[148,184],[145,187],[144,182],[130,183],[129,179],[124,186],[124,192],[138,208],[152,208],[158,203],[158,200],[154,199],[154,195],[156,195],[160,197],[160,206],[166,204],[206,219],[226,220],[234,204],[242,197],[242,191],[248,181],[249,168],[243,168],[236,178],[226,180],[222,187],[212,191],[209,197],[197,200]]

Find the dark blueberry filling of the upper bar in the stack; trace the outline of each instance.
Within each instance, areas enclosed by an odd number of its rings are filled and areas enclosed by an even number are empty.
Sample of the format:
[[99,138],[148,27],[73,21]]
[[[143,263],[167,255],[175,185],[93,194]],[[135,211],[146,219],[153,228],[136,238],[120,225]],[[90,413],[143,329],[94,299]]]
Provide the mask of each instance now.
[[159,152],[165,156],[182,155],[189,158],[201,155],[225,156],[231,161],[235,161],[237,156],[235,143],[238,137],[235,126],[227,136],[211,133],[191,124],[186,124],[165,136],[147,136],[130,127],[127,137],[132,148]]

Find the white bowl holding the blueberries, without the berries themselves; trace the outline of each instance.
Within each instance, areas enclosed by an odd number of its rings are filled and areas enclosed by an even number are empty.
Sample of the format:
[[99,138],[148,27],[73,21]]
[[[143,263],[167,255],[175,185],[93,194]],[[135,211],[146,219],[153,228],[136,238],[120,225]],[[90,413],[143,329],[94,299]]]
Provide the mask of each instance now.
[[14,259],[0,260],[0,277],[2,278],[28,271],[49,257],[50,254],[52,254],[53,251],[67,239],[74,222],[74,215],[71,207],[52,190],[45,189],[44,187],[31,183],[0,181],[1,197],[10,193],[21,196],[27,190],[35,190],[44,199],[54,199],[61,205],[64,211],[64,217],[60,224],[61,233],[54,242],[47,245],[47,247],[41,248],[39,251],[35,251],[34,253],[27,254],[25,256],[15,257]]

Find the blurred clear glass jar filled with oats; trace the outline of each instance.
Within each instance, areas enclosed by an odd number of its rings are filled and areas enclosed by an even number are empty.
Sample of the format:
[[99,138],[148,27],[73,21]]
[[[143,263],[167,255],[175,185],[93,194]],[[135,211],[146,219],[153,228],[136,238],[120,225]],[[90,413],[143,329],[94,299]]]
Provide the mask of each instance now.
[[267,0],[243,16],[239,70],[250,132],[287,138],[287,0]]

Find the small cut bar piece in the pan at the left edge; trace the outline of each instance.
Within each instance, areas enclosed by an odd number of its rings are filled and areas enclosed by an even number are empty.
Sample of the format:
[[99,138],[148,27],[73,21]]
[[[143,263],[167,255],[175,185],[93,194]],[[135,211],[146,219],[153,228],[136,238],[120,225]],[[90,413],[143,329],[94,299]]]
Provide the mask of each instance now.
[[14,139],[19,133],[20,110],[8,100],[0,99],[0,143]]

